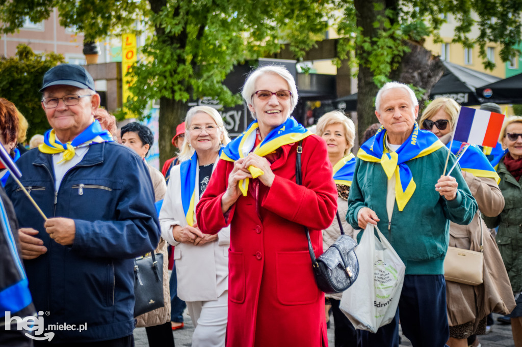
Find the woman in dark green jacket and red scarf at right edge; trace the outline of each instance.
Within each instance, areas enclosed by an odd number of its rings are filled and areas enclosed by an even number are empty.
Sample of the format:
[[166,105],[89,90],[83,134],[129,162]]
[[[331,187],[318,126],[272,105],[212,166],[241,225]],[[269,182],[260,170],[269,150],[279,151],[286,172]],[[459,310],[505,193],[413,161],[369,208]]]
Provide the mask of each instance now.
[[500,135],[506,154],[497,172],[504,209],[497,217],[484,218],[490,228],[499,227],[496,243],[506,266],[516,307],[511,312],[511,329],[515,346],[522,346],[522,117],[508,118]]

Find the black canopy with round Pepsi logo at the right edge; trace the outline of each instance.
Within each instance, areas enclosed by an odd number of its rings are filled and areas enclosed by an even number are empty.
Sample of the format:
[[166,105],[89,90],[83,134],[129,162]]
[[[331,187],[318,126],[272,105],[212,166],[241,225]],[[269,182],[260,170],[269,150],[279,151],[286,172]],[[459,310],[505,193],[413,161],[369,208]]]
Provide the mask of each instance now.
[[482,102],[522,104],[522,73],[477,88]]

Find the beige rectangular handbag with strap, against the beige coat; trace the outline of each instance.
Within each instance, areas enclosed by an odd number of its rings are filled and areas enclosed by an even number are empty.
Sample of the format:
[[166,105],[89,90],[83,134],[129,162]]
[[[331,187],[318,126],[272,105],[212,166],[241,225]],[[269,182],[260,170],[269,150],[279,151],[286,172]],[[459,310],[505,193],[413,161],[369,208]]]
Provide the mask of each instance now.
[[[480,212],[479,212],[480,216]],[[477,286],[482,283],[482,264],[484,261],[482,249],[482,217],[480,224],[480,252],[448,247],[444,259],[444,278],[446,281]]]

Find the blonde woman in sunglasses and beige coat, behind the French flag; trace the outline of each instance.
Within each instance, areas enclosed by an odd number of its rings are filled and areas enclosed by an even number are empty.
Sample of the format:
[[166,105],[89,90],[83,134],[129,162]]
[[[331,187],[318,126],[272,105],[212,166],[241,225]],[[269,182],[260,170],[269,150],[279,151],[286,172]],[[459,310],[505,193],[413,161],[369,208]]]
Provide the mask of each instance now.
[[[421,129],[429,130],[437,135],[449,147],[449,140],[457,122],[460,106],[448,97],[433,100],[424,110],[420,119]],[[452,153],[458,155],[460,142],[454,141]],[[460,151],[459,151],[460,150]],[[462,176],[477,200],[480,212],[485,216],[496,216],[504,207],[504,198],[497,185],[499,176],[489,160],[477,146],[469,147],[461,154],[460,166]],[[482,237],[482,240],[481,240]],[[481,251],[483,244],[484,270],[483,283],[470,286],[446,281],[446,302],[449,323],[450,347],[468,346],[468,338],[473,334],[484,334],[487,315],[492,311],[509,312],[513,301],[509,300],[509,281],[502,258],[495,245],[495,240],[484,224],[480,213],[473,217],[469,225],[449,226],[449,245],[460,249]],[[495,274],[495,278],[490,276]],[[506,296],[506,304],[502,300]],[[473,338],[474,344],[478,340]]]

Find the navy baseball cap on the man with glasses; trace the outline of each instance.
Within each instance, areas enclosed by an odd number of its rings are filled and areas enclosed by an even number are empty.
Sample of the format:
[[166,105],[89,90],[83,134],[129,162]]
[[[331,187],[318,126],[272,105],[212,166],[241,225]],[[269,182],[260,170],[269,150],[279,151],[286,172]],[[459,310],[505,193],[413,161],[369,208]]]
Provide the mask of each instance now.
[[40,92],[51,85],[72,85],[96,91],[90,73],[83,66],[73,64],[57,65],[45,72]]

